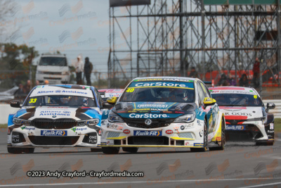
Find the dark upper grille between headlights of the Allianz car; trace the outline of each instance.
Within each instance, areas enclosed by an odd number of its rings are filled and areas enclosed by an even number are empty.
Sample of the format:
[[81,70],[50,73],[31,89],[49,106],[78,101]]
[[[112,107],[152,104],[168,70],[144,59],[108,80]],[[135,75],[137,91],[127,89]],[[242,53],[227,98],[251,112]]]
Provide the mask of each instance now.
[[65,130],[75,127],[77,122],[73,119],[47,119],[47,118],[37,118],[32,120],[32,125],[39,129],[44,130]]

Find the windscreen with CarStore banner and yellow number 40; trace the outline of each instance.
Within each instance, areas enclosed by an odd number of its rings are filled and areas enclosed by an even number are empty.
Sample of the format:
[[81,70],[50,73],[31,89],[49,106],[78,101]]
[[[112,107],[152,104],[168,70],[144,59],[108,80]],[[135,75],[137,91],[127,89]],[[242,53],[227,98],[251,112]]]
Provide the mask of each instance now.
[[132,82],[122,94],[123,102],[178,102],[195,101],[193,82]]

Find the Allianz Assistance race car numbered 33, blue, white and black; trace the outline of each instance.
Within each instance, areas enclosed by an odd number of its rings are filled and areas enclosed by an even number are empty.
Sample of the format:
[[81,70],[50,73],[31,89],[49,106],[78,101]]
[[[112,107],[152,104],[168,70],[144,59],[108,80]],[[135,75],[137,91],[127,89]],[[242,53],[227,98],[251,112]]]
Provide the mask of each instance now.
[[95,87],[56,84],[32,89],[22,106],[8,117],[8,152],[33,153],[35,147],[100,146],[100,108]]

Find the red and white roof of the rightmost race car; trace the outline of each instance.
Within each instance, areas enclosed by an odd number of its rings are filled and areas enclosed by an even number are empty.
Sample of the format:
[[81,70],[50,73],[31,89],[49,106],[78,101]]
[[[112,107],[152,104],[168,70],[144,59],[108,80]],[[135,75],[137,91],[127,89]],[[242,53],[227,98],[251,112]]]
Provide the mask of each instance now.
[[249,93],[257,94],[256,90],[251,87],[235,87],[235,86],[226,86],[226,87],[209,87],[211,93]]

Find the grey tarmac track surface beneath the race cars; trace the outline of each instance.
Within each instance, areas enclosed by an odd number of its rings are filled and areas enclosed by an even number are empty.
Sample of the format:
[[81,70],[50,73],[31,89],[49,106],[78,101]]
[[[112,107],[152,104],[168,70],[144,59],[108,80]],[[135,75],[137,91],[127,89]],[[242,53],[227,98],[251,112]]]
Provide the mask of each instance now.
[[[140,148],[118,155],[90,149],[35,149],[33,154],[6,151],[0,132],[0,187],[281,187],[281,134],[274,146],[226,144],[225,151]],[[63,152],[62,152],[63,151]],[[144,177],[27,177],[29,170],[143,172]]]

